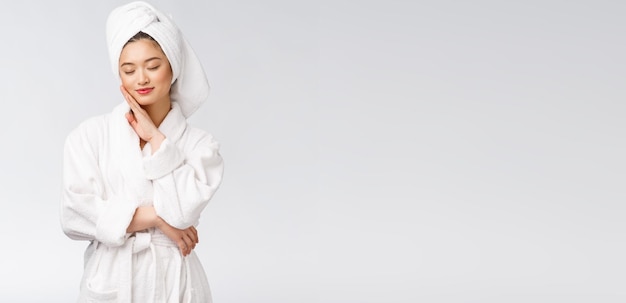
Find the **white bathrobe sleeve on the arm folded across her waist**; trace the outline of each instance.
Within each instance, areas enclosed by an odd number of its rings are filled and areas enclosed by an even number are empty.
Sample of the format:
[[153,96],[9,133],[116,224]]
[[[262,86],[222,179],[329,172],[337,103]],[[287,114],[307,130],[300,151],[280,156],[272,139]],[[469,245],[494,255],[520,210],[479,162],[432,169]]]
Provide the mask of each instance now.
[[61,225],[74,240],[120,246],[137,206],[107,195],[98,161],[104,126],[88,122],[65,141]]

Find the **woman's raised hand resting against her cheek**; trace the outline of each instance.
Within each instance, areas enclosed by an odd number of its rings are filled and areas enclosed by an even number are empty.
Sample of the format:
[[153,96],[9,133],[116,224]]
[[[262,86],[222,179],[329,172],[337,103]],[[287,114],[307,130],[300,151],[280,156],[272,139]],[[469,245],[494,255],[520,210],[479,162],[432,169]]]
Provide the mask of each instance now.
[[126,113],[126,120],[128,120],[128,123],[132,126],[133,130],[135,130],[139,138],[145,142],[151,142],[151,144],[155,139],[160,140],[160,142],[163,141],[165,135],[154,125],[154,122],[152,122],[146,110],[141,108],[137,100],[130,95],[124,86],[120,85],[120,91],[124,95],[131,110],[131,112]]

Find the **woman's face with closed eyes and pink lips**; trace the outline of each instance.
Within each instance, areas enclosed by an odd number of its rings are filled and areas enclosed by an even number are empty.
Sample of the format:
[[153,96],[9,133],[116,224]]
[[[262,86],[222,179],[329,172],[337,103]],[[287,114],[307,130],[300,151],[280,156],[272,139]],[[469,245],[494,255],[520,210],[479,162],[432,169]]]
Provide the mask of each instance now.
[[159,45],[149,39],[129,42],[119,60],[122,85],[142,106],[170,101],[172,69]]

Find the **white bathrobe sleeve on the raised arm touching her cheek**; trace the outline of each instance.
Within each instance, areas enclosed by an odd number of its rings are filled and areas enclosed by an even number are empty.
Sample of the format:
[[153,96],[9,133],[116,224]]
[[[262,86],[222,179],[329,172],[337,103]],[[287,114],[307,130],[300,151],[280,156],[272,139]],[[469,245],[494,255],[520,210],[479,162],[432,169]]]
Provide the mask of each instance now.
[[146,177],[153,181],[154,209],[179,229],[197,223],[223,173],[219,143],[197,130],[188,135],[197,139],[186,140],[183,146],[165,139],[153,155],[144,158]]

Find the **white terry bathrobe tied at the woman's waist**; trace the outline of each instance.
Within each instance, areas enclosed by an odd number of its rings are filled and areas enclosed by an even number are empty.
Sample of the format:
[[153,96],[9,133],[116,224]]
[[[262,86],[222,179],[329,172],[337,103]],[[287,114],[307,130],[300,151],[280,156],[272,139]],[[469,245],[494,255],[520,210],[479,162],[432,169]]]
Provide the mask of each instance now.
[[[189,126],[177,103],[159,126],[166,139],[152,155],[124,114],[91,118],[67,137],[61,222],[85,252],[80,302],[211,302],[198,257],[183,257],[158,229],[126,233],[138,206],[184,229],[196,225],[223,172],[219,145]],[[202,239],[202,235],[200,235]],[[199,245],[202,245],[202,241]]]

